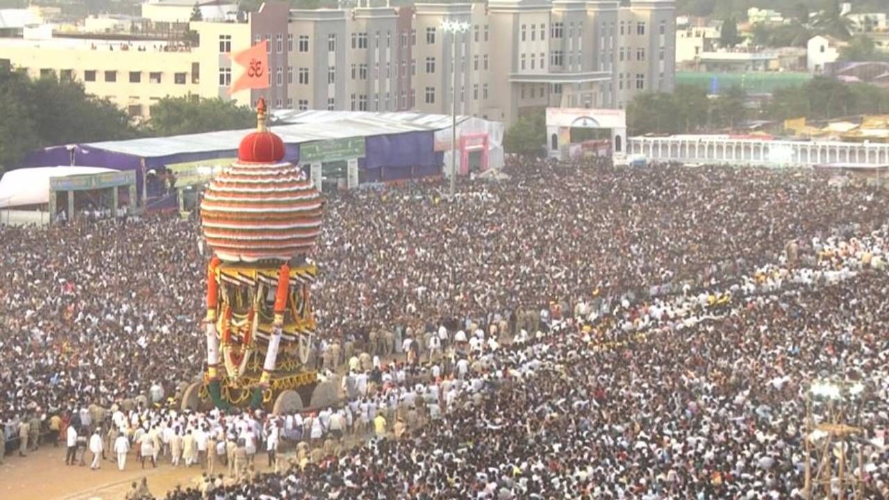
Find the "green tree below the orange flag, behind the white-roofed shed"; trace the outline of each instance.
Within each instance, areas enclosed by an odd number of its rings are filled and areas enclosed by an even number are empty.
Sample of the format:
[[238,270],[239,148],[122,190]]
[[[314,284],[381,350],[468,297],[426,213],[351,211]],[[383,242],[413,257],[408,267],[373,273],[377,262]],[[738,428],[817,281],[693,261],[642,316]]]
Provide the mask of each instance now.
[[256,124],[256,114],[234,101],[164,97],[151,109],[151,119],[145,127],[149,135],[165,136],[183,133],[203,133],[217,130],[249,128]]

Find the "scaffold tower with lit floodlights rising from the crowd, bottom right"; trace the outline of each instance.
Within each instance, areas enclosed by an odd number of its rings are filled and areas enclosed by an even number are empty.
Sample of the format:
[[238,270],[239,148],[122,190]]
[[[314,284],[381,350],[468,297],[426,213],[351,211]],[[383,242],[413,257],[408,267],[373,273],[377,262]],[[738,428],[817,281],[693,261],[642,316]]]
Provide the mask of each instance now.
[[847,380],[815,380],[806,392],[806,500],[863,500],[866,399],[864,384]]

